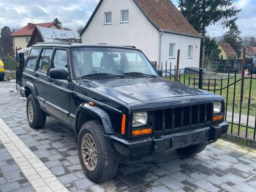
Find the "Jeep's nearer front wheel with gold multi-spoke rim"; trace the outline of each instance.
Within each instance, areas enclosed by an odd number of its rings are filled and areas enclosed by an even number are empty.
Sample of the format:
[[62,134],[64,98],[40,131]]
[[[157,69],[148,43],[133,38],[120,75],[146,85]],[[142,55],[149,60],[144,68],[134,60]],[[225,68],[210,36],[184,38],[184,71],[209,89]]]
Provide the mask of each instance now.
[[[86,176],[96,183],[112,179],[118,170],[118,161],[113,156],[111,146],[103,134],[102,125],[93,120],[83,124],[78,136],[78,154],[81,166]],[[90,145],[88,140],[92,141]],[[93,142],[94,144],[92,144]],[[86,147],[89,148],[87,156],[84,153]],[[90,156],[93,158],[93,155],[97,157],[94,158],[94,161],[90,161]],[[87,163],[83,160],[84,157],[89,157]],[[94,163],[91,163],[90,166],[90,162]]]

